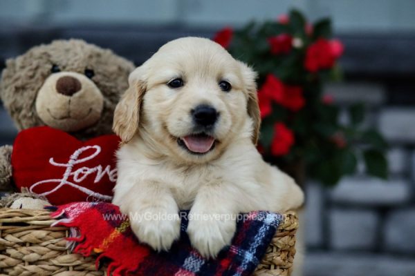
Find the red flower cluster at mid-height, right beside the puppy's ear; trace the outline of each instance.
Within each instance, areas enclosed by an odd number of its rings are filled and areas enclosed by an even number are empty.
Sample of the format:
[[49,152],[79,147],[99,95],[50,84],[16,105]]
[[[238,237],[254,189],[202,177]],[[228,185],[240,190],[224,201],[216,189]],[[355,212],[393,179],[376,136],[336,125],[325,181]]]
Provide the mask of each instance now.
[[267,75],[265,83],[259,89],[258,101],[261,118],[267,117],[273,112],[273,102],[293,111],[298,111],[305,105],[301,87],[286,86],[272,74]]

